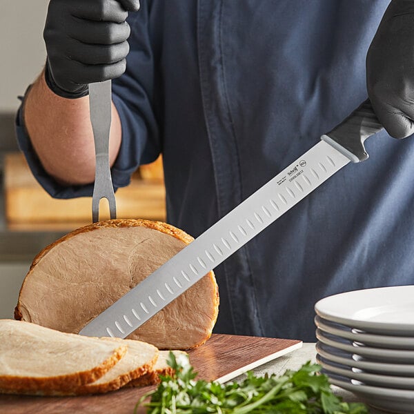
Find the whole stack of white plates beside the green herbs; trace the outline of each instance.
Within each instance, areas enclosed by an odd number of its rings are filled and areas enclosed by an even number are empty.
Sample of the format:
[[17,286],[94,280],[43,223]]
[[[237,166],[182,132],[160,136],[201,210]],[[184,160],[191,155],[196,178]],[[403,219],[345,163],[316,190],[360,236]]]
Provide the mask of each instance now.
[[414,286],[355,290],[315,304],[317,362],[332,384],[414,413]]

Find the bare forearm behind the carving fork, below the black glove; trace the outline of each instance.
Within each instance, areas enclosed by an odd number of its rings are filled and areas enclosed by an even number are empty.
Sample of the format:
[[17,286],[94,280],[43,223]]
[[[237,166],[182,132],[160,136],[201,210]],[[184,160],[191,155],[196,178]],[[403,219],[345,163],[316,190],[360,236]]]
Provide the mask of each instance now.
[[[95,146],[89,119],[89,97],[66,99],[55,95],[43,73],[28,92],[23,107],[26,129],[46,172],[65,184],[88,184],[95,179]],[[110,164],[121,144],[121,122],[112,103]]]

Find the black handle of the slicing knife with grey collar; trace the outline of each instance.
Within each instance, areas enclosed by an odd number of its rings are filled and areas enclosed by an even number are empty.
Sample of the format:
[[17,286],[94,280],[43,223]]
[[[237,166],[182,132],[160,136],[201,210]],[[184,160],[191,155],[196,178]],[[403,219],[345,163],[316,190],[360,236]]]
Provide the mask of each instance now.
[[322,135],[321,139],[342,152],[351,161],[360,162],[368,158],[364,141],[383,128],[370,100],[366,99],[341,124]]

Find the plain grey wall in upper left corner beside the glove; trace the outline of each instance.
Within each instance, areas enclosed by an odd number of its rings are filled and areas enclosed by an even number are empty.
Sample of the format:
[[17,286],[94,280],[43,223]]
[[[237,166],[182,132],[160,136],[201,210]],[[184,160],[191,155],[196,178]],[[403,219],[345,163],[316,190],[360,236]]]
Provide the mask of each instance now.
[[43,68],[48,0],[0,0],[0,112],[14,112]]

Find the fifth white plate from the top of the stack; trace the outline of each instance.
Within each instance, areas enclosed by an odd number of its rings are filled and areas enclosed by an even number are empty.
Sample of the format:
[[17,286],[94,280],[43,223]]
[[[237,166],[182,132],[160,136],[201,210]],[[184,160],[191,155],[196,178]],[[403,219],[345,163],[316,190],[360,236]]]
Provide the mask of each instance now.
[[390,375],[364,373],[359,370],[355,371],[355,369],[348,368],[347,366],[335,364],[335,362],[324,359],[320,355],[317,355],[316,359],[317,363],[320,364],[322,368],[324,368],[323,371],[327,375],[329,375],[329,373],[335,373],[351,380],[358,380],[360,382],[363,382],[365,385],[384,386],[411,391],[414,390],[413,377],[393,377]]

